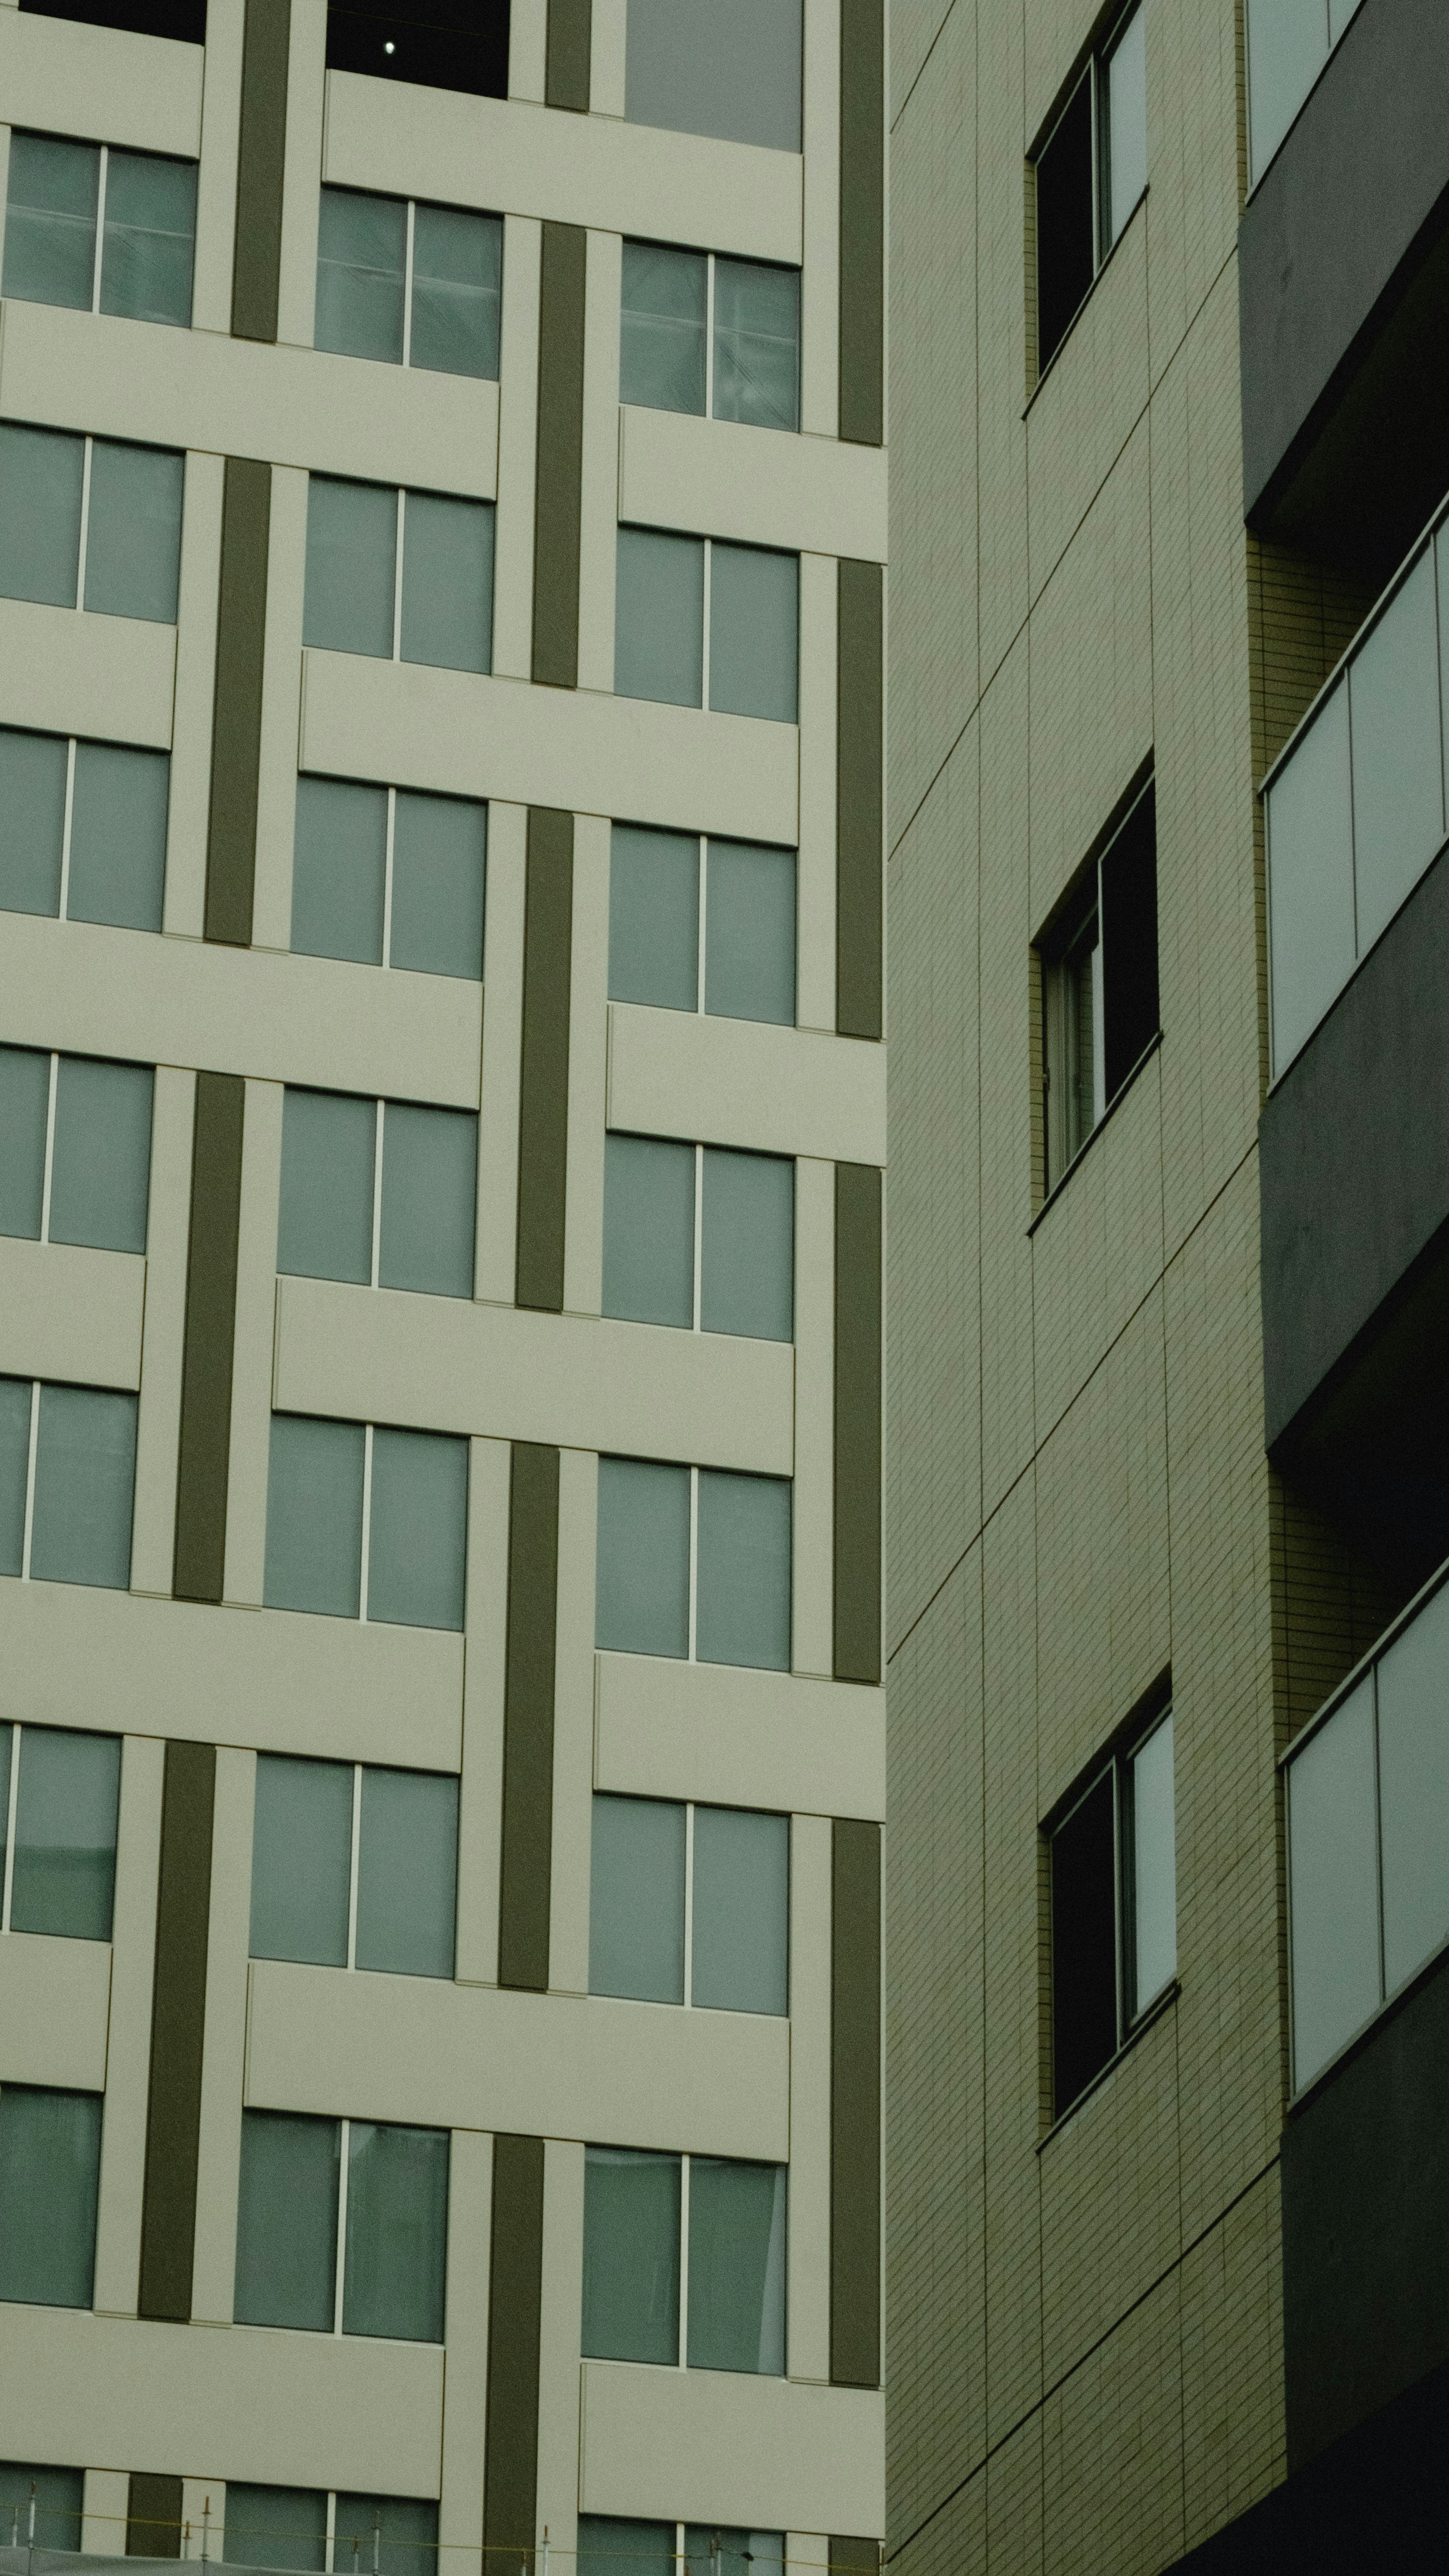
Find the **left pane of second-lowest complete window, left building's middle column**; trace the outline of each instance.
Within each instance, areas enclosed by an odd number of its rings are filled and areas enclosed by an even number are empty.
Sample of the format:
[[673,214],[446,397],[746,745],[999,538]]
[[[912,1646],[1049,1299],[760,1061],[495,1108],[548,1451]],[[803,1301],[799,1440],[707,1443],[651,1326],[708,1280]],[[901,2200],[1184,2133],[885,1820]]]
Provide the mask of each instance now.
[[253,1958],[345,1968],[351,1870],[351,1762],[258,1754]]

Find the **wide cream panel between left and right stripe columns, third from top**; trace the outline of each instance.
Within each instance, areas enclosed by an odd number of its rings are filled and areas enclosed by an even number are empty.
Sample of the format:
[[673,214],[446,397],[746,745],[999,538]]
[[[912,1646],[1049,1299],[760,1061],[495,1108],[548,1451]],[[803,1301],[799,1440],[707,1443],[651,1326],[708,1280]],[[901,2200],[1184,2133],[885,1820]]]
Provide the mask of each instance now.
[[792,1378],[784,1342],[278,1280],[281,1412],[789,1476]]

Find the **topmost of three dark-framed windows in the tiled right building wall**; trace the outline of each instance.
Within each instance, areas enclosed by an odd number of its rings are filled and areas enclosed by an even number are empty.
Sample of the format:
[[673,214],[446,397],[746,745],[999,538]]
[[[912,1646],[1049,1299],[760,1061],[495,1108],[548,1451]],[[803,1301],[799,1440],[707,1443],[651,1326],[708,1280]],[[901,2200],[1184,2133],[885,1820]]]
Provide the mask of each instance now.
[[1091,57],[1031,167],[1042,374],[1147,193],[1147,54],[1140,0]]

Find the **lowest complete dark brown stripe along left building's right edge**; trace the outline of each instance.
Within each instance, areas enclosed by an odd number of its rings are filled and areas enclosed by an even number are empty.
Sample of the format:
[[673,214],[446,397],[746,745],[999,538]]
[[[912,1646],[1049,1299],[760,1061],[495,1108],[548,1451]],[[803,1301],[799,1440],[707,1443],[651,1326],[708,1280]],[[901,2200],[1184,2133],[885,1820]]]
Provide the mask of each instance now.
[[830,1826],[830,2378],[879,2388],[879,1824]]

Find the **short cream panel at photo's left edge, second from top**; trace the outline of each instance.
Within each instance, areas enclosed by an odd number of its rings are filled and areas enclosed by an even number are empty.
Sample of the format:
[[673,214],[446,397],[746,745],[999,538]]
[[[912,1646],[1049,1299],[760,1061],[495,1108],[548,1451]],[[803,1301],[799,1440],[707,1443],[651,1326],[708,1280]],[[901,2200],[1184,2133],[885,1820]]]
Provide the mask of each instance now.
[[[5,322],[28,307],[5,304]],[[0,404],[10,410],[3,392]],[[170,750],[175,626],[0,600],[0,721]]]

